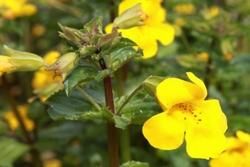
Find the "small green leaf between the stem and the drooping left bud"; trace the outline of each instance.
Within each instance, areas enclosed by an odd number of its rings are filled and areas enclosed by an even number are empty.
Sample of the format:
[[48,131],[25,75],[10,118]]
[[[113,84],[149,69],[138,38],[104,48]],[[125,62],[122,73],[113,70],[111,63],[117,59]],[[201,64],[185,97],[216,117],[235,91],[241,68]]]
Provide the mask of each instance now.
[[69,93],[80,83],[91,81],[97,75],[97,70],[93,67],[77,67],[64,81],[66,94]]

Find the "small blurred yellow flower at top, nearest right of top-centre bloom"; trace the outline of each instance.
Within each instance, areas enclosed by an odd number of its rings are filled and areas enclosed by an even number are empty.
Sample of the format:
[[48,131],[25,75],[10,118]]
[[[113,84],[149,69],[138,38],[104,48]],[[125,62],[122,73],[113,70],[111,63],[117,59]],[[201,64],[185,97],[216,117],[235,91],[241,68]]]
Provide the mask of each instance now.
[[180,3],[174,7],[174,12],[181,15],[192,15],[196,12],[196,7],[192,3]]

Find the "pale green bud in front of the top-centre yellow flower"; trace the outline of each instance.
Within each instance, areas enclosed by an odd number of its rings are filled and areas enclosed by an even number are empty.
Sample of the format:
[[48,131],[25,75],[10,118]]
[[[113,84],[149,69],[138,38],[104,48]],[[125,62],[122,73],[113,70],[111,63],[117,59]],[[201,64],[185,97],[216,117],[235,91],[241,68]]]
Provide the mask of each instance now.
[[127,29],[134,26],[140,26],[144,24],[146,17],[147,15],[142,11],[141,4],[138,3],[116,17],[114,20],[114,27]]

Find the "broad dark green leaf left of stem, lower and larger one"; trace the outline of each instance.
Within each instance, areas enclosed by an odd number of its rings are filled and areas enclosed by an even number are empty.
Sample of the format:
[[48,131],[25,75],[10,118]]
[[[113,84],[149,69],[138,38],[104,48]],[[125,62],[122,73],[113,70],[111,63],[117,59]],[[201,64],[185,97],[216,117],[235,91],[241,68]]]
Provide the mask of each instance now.
[[73,91],[69,96],[61,91],[48,99],[48,104],[48,113],[54,120],[93,120],[110,117],[106,109],[96,111],[77,91]]

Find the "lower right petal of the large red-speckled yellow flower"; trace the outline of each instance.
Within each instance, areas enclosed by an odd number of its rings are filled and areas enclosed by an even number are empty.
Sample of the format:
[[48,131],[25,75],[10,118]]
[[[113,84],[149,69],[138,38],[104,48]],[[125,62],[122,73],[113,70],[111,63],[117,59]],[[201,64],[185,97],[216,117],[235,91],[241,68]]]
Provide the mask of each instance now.
[[187,153],[193,158],[214,158],[226,149],[227,120],[218,100],[202,102],[186,129]]

